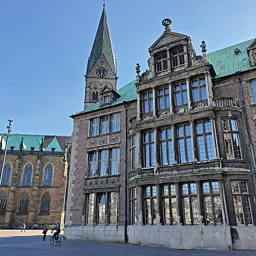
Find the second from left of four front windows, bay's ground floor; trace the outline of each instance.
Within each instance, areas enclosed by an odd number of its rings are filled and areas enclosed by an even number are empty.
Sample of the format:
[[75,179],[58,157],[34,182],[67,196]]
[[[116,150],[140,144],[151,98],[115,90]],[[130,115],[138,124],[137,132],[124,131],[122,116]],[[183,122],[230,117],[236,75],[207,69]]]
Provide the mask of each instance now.
[[176,188],[174,184],[163,186],[163,222],[177,223]]

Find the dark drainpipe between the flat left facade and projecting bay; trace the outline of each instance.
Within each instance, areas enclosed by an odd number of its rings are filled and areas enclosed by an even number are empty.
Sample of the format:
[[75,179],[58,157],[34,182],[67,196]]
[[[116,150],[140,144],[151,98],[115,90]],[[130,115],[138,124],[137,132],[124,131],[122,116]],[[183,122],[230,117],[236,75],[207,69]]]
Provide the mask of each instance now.
[[122,102],[125,106],[125,244],[127,244],[127,102]]

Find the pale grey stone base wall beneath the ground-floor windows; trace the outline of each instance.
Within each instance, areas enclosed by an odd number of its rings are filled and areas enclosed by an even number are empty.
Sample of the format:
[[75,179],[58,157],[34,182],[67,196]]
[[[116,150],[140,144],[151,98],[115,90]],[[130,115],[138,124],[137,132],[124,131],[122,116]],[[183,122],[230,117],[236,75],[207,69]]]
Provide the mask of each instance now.
[[[65,226],[69,240],[124,242],[124,226]],[[179,249],[256,250],[256,227],[128,226],[129,244]]]

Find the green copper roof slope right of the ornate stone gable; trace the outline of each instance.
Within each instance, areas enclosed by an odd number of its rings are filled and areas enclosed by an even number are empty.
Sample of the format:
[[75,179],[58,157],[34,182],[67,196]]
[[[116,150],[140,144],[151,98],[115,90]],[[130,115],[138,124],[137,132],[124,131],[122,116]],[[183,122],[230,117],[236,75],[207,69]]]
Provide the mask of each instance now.
[[[246,71],[252,69],[250,66],[246,48],[253,43],[255,39],[250,39],[246,42],[235,44],[223,48],[213,53],[208,53],[208,62],[212,64],[216,76],[214,78],[232,75],[237,71]],[[238,54],[235,51],[239,50]]]

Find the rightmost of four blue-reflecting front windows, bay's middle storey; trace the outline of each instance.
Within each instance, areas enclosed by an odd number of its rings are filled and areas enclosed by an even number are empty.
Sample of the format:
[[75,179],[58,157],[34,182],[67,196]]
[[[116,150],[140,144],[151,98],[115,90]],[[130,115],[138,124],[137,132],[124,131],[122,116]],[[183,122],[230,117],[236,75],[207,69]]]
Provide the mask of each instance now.
[[199,147],[199,161],[214,159],[212,128],[210,122],[199,122],[196,124],[196,134]]

